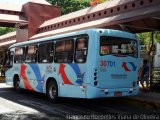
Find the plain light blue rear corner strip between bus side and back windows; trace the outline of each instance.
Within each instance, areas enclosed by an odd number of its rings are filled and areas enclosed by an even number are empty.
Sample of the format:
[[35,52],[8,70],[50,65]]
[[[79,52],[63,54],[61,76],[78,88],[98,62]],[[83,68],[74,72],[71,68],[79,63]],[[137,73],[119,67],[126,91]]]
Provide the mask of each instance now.
[[87,76],[86,76],[86,98],[93,94],[94,91],[90,90],[88,85],[94,86],[98,76],[95,75],[97,72],[97,60],[98,60],[98,42],[99,42],[99,32],[91,31],[89,33],[89,46],[88,46],[88,58],[87,58]]

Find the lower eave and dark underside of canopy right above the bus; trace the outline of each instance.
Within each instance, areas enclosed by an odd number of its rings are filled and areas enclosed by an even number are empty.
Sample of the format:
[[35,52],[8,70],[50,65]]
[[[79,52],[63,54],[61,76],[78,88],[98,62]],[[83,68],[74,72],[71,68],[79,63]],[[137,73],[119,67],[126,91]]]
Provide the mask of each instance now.
[[31,37],[31,39],[88,28],[111,28],[129,31],[132,33],[155,31],[160,30],[160,17],[158,16],[160,16],[160,4],[69,27],[62,27],[51,31],[46,30],[46,32],[37,34]]

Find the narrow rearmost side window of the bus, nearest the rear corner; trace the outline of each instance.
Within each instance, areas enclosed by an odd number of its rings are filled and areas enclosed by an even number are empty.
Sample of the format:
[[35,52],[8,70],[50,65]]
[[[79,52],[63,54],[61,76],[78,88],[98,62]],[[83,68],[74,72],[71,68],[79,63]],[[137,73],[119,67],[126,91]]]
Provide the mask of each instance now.
[[88,39],[81,37],[76,40],[75,62],[85,63],[87,59]]

